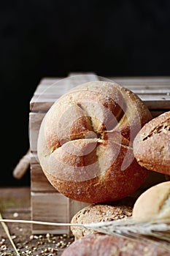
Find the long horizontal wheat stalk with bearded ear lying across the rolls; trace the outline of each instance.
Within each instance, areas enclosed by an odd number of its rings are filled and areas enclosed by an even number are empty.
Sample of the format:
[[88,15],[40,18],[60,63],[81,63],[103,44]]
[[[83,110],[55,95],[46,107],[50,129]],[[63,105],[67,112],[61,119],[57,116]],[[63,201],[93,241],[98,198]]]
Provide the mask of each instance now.
[[[93,222],[90,224],[74,224],[74,223],[56,223],[56,222],[41,222],[34,220],[21,219],[0,219],[0,222],[26,223],[35,225],[53,225],[53,226],[77,226],[85,227],[91,230],[96,230],[99,233],[104,233],[112,236],[122,236],[125,238],[142,239],[152,241],[152,238],[158,238],[161,241],[170,243],[170,222],[165,219],[155,222],[136,222],[132,217],[125,219],[117,219],[109,222]],[[159,246],[163,246],[169,250],[169,244],[162,244],[156,241]]]

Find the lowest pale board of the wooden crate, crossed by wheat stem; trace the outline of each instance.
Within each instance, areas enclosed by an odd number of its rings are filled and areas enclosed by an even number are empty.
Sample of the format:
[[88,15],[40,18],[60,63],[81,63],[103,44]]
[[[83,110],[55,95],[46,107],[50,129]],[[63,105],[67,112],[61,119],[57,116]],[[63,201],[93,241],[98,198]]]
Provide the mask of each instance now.
[[[31,192],[31,219],[44,222],[70,222],[87,203],[71,200],[58,192]],[[32,225],[34,234],[72,234],[69,227]]]

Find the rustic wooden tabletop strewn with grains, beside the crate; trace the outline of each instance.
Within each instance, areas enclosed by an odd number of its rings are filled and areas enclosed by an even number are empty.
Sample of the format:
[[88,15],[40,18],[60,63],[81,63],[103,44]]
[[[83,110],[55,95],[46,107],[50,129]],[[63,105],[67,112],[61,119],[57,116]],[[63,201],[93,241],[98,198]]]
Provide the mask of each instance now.
[[[0,188],[0,211],[4,219],[31,219],[29,187]],[[30,224],[7,223],[19,255],[61,255],[74,238],[66,234],[32,235]],[[16,255],[4,228],[0,224],[0,255]]]

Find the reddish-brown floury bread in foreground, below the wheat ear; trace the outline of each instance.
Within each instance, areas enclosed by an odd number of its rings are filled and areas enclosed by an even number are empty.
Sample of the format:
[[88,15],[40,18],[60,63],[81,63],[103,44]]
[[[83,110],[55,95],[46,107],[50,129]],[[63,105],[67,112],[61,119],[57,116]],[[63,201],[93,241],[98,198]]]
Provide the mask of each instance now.
[[169,256],[169,249],[150,241],[101,234],[90,234],[74,241],[62,256]]

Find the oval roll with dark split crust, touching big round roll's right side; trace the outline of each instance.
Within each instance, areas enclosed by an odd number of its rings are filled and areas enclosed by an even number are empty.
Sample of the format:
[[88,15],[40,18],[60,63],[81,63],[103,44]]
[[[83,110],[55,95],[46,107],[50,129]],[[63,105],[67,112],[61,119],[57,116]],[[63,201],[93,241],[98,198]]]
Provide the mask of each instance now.
[[170,175],[170,111],[142,127],[134,139],[134,157],[148,170]]

